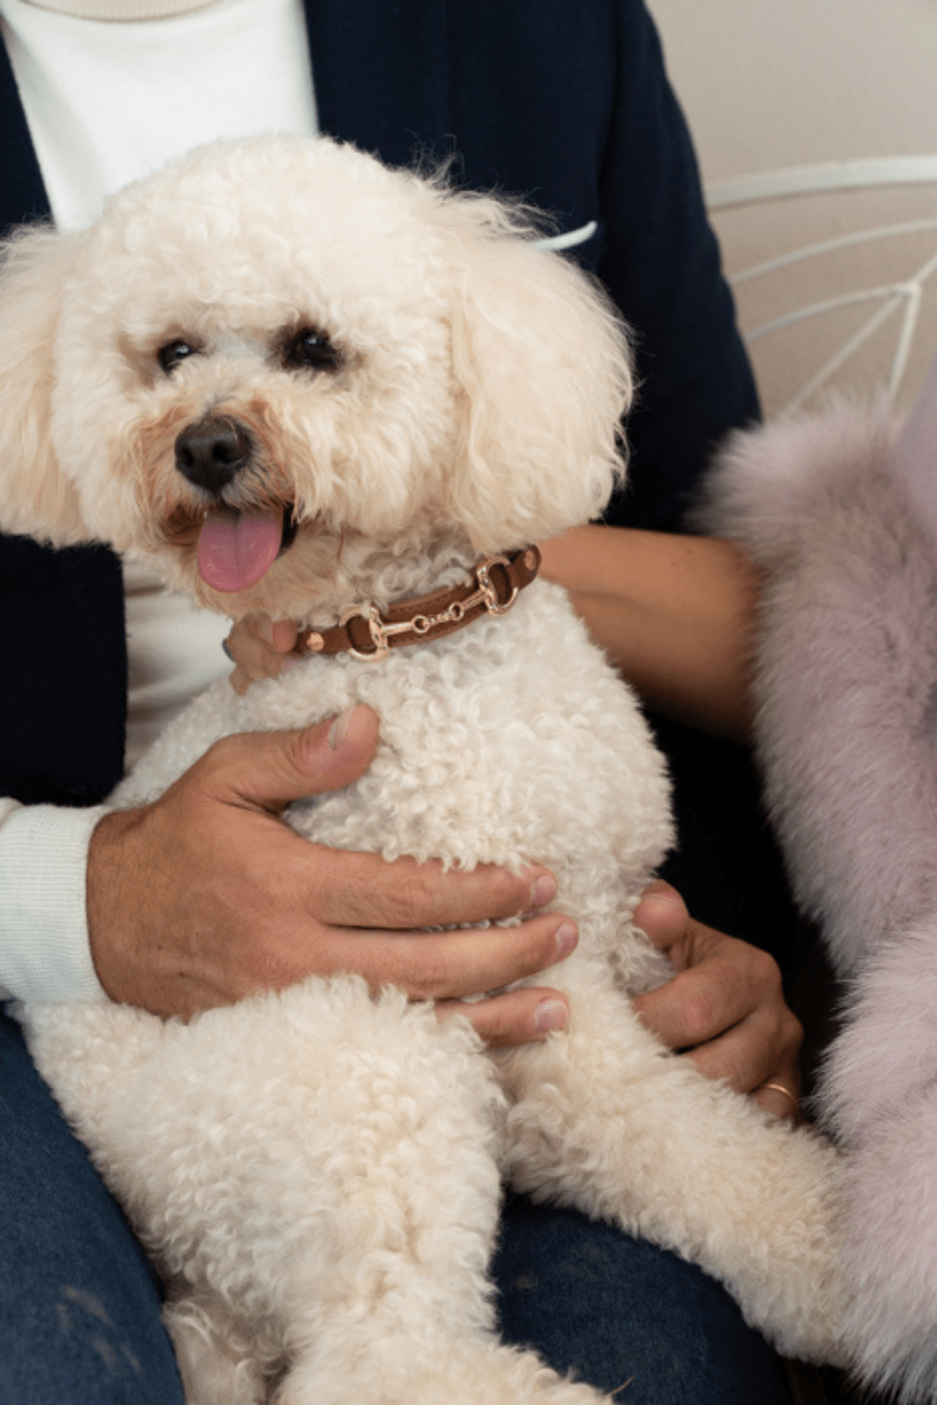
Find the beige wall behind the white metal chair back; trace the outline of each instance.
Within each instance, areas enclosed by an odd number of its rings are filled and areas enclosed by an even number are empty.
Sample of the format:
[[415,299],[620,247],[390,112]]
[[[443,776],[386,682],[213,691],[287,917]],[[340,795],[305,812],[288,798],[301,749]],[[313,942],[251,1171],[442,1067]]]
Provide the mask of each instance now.
[[[937,155],[937,0],[649,0],[707,183],[774,167],[870,156]],[[851,229],[937,219],[937,190],[809,197],[715,216],[736,273],[787,249]],[[937,232],[827,256],[739,288],[743,327],[833,292],[902,281],[937,250]],[[931,308],[931,301],[934,308]],[[753,347],[770,409],[847,336],[868,306]],[[837,381],[863,391],[888,377],[889,319]],[[937,351],[937,275],[924,298],[903,396]]]

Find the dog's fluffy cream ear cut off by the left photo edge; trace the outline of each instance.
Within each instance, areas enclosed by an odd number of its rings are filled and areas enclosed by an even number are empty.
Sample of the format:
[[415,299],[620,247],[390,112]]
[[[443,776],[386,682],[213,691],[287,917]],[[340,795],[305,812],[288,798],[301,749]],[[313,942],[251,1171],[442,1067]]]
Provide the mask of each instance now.
[[59,298],[79,240],[30,229],[0,250],[0,531],[55,547],[90,540],[51,438]]

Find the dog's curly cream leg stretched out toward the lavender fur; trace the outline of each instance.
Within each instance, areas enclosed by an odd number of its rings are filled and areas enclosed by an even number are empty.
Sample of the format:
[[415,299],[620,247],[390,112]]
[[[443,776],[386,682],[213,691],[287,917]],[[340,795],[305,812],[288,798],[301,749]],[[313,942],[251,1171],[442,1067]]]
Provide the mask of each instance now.
[[697,1262],[785,1354],[836,1359],[833,1149],[666,1052],[618,992],[570,995],[568,1034],[500,1055],[513,1183]]

